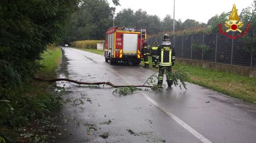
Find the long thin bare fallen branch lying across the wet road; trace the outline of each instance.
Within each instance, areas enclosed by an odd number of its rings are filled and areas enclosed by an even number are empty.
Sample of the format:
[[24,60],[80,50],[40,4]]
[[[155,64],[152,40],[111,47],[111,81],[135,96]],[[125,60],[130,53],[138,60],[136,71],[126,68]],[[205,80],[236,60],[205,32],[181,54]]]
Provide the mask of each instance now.
[[53,83],[53,82],[56,82],[56,81],[68,81],[68,82],[75,83],[75,84],[86,84],[86,85],[101,85],[101,84],[103,84],[103,85],[109,85],[113,88],[124,88],[124,87],[127,87],[127,86],[134,86],[136,88],[139,88],[139,87],[151,88],[152,87],[150,85],[114,85],[114,84],[110,83],[109,81],[108,82],[88,83],[88,82],[76,81],[76,80],[72,80],[72,79],[63,79],[63,78],[51,79],[51,80],[35,78],[35,80],[45,81],[45,82],[50,82],[50,83]]

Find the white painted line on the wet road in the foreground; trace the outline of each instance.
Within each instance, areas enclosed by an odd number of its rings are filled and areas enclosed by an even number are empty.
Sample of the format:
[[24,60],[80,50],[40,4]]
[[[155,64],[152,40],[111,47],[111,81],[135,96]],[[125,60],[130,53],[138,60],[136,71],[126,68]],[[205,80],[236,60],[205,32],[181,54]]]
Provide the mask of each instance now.
[[193,134],[195,137],[197,137],[202,142],[210,143],[211,141],[206,139],[203,135],[201,135],[199,132],[197,132],[195,129],[193,129],[191,126],[186,124],[183,120],[179,119],[177,116],[175,116],[173,113],[171,113],[169,110],[158,104],[155,100],[147,96],[145,93],[140,93],[142,96],[144,96],[147,100],[149,100],[152,104],[157,106],[160,110],[164,111],[165,114],[170,116],[174,121],[178,122],[181,126],[183,126],[186,130],[188,130],[191,134]]

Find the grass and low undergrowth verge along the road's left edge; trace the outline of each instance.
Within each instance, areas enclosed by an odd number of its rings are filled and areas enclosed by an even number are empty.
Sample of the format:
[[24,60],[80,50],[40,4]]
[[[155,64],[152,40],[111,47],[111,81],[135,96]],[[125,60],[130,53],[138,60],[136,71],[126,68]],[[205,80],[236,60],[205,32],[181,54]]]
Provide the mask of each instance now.
[[[51,74],[56,76],[55,69],[60,63],[61,49],[50,47],[42,54],[43,65],[38,75]],[[50,54],[51,53],[51,54]],[[29,81],[17,90],[6,89],[0,100],[0,137],[7,142],[36,142],[40,136],[35,136],[26,128],[32,129],[36,119],[47,118],[47,114],[60,109],[62,98],[53,95],[48,90],[49,84],[38,81]],[[45,140],[45,138],[44,138]]]

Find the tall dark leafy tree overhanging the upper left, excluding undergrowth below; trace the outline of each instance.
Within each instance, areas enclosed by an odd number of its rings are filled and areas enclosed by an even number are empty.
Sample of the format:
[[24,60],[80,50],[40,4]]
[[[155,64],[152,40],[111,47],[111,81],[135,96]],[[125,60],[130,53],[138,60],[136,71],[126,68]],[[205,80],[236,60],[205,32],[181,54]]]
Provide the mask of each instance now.
[[66,19],[79,3],[78,0],[1,1],[0,90],[17,87],[36,72],[41,53],[47,44],[61,39]]

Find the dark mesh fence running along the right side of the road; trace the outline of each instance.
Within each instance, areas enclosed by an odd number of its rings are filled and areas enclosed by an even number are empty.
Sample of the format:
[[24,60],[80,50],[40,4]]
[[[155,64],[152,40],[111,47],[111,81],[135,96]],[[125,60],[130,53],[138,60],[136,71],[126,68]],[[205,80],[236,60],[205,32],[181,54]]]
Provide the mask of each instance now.
[[[254,32],[247,34],[253,37]],[[151,37],[147,41],[161,44],[161,37]],[[250,50],[256,45],[247,47],[242,39],[229,39],[220,33],[211,33],[174,36],[171,43],[178,58],[256,67],[256,53]]]

